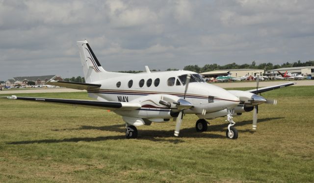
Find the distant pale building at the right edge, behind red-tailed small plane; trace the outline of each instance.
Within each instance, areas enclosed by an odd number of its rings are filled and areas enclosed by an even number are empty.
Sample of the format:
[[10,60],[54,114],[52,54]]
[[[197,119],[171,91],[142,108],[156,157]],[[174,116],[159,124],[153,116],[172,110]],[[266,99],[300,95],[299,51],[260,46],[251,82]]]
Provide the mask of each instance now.
[[270,76],[270,75],[279,75],[279,72],[281,73],[285,73],[286,71],[288,71],[288,73],[296,73],[296,74],[300,74],[302,76],[307,76],[314,74],[314,66],[306,66],[306,67],[286,67],[286,68],[279,68],[279,69],[272,69],[269,71],[265,72],[265,75]]

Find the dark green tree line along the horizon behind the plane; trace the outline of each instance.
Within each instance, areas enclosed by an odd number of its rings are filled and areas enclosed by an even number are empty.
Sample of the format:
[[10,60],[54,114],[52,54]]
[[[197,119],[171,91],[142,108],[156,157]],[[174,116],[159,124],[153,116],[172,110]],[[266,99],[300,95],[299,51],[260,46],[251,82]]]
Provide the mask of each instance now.
[[[285,67],[305,67],[305,66],[314,66],[314,60],[309,60],[306,62],[301,62],[300,60],[293,62],[293,63],[283,63],[281,65],[279,64],[272,64],[270,62],[268,63],[261,63],[259,65],[256,65],[256,62],[253,61],[251,64],[241,64],[238,65],[235,62],[231,64],[226,64],[226,65],[218,65],[218,64],[206,64],[203,67],[199,67],[198,65],[187,65],[183,68],[185,71],[193,71],[196,73],[205,73],[209,71],[214,71],[214,70],[227,70],[227,69],[263,69],[263,70],[272,70],[272,69],[279,69],[279,68],[285,68]],[[166,71],[178,71],[179,69],[172,69],[168,68]],[[151,71],[160,71],[153,69]],[[118,71],[119,73],[141,73],[144,71]],[[69,82],[85,82],[84,77],[72,77],[72,78],[64,78],[64,81],[69,81]]]

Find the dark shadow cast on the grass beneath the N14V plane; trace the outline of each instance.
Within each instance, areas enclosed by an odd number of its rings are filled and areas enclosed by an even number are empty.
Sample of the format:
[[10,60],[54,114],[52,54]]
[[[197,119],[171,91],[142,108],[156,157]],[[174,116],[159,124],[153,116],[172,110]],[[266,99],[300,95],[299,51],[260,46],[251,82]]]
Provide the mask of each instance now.
[[[270,120],[282,119],[283,117],[275,118],[263,118],[259,119],[258,123],[267,122]],[[244,126],[252,124],[252,120],[237,122],[235,126]],[[174,144],[182,143],[184,140],[182,138],[226,138],[225,135],[213,134],[210,131],[226,131],[227,124],[219,125],[209,125],[207,133],[196,132],[195,128],[185,128],[180,130],[180,137],[176,139],[167,139],[173,138],[173,130],[138,130],[138,139],[141,140],[150,140],[154,142],[170,142]],[[111,125],[111,126],[81,126],[76,129],[57,129],[52,131],[74,131],[74,130],[100,130],[100,131],[114,131],[125,133],[125,129],[122,125]],[[238,130],[239,132],[253,132],[251,130]],[[43,139],[43,140],[26,140],[26,141],[15,141],[9,142],[7,144],[33,144],[33,143],[61,143],[61,142],[95,142],[95,141],[105,141],[105,140],[120,140],[125,139],[125,135],[114,135],[114,136],[98,136],[98,137],[75,137],[75,138],[64,138],[64,139]]]

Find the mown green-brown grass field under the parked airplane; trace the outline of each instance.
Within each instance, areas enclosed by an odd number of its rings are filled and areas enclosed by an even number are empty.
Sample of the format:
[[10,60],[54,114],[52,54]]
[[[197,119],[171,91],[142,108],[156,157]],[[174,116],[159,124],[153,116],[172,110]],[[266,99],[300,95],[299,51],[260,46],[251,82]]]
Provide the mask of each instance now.
[[[247,88],[242,88],[247,89]],[[138,127],[125,139],[113,112],[0,100],[0,182],[314,182],[314,86],[269,91],[278,105],[235,117],[236,140],[225,118],[196,132],[195,115]],[[3,96],[3,95],[0,95]],[[84,92],[18,94],[88,99]]]

